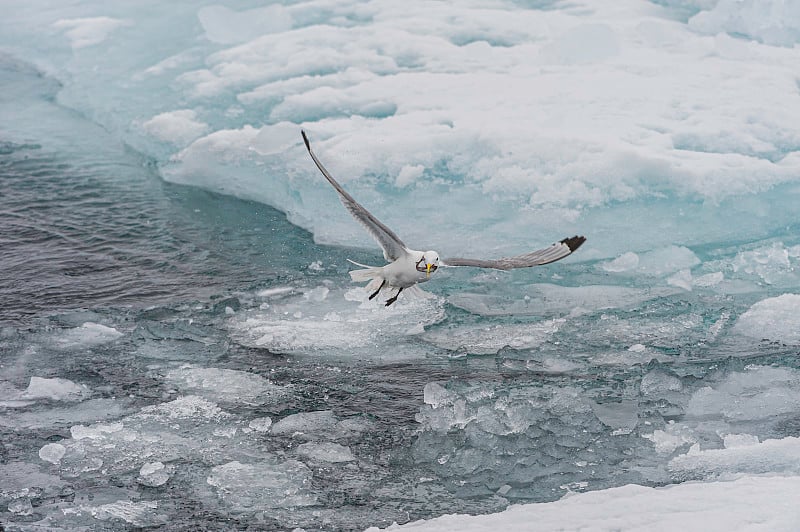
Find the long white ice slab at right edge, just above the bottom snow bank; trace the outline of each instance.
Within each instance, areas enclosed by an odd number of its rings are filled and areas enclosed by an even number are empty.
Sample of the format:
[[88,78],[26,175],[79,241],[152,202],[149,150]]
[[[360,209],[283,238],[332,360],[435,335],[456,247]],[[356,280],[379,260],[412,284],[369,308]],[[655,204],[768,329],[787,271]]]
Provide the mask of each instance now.
[[693,446],[686,454],[669,462],[669,469],[680,480],[710,479],[729,474],[800,474],[800,438],[789,436],[725,449],[699,450]]

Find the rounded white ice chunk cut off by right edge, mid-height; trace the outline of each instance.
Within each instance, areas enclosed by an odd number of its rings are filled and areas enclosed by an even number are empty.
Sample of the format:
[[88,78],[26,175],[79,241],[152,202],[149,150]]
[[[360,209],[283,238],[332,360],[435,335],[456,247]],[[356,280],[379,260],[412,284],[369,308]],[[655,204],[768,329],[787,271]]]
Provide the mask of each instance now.
[[739,316],[733,330],[758,340],[800,344],[800,295],[783,294],[759,301]]

